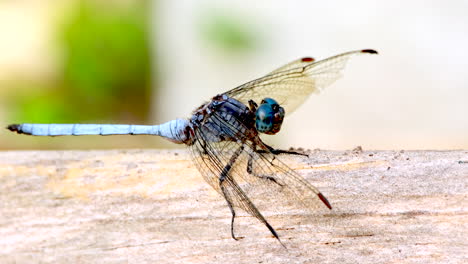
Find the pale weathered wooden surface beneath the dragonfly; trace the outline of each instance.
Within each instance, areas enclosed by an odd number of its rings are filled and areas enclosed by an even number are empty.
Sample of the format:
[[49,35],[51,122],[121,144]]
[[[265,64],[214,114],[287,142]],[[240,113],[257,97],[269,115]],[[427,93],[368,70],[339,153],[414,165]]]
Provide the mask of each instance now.
[[[468,151],[284,158],[332,211],[225,201],[186,150],[0,152],[0,263],[467,263]],[[274,201],[266,201],[274,204]]]

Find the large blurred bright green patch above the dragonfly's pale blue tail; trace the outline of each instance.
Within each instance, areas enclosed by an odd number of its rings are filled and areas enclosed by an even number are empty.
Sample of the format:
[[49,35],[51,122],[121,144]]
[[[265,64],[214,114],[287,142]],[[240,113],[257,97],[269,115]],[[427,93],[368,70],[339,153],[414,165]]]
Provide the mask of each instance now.
[[[150,105],[148,1],[77,1],[56,24],[54,78],[12,84],[9,118],[37,122],[144,122]],[[154,79],[154,81],[157,81]],[[17,86],[17,87],[15,87]]]

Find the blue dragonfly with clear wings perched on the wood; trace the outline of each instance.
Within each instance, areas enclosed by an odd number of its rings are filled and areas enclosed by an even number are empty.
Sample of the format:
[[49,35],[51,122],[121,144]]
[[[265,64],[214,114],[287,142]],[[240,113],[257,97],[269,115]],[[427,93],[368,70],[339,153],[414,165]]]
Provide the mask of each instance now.
[[349,58],[361,54],[377,51],[350,51],[320,61],[312,57],[294,60],[264,77],[214,96],[189,118],[160,125],[23,123],[7,129],[34,136],[156,135],[185,144],[205,181],[227,202],[231,237],[239,239],[234,220],[237,210],[242,209],[263,223],[281,243],[276,230],[253,202],[254,197],[278,192],[299,207],[331,210],[332,206],[315,186],[279,158],[307,155],[269,146],[260,134],[278,133],[286,113],[292,113],[311,94],[335,82]]

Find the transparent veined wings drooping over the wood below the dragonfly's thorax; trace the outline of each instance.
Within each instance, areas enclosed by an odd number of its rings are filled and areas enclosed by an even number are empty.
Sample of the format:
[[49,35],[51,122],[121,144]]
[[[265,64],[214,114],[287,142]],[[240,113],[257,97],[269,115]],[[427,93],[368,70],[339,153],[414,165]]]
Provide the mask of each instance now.
[[[232,156],[239,149],[241,153],[235,162],[230,164]],[[220,193],[220,176],[226,165],[230,164],[232,168],[228,178],[233,184],[238,184],[239,191],[244,192],[248,198],[258,198],[262,195],[275,196],[272,191],[276,190],[288,197],[289,202],[297,202],[296,207],[313,210],[329,206],[323,201],[324,198],[320,197],[322,195],[316,187],[282,162],[278,156],[255,152],[251,143],[233,141],[208,143],[197,140],[191,150],[196,166],[205,180]],[[234,205],[256,216],[254,210],[245,204],[244,198],[241,199],[243,196],[240,193],[236,194]]]

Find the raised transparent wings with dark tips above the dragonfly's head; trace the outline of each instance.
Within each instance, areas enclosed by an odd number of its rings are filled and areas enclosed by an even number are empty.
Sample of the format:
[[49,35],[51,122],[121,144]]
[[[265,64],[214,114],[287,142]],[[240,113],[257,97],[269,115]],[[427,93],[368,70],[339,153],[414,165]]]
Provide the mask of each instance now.
[[248,105],[265,97],[275,99],[286,111],[292,113],[312,93],[317,93],[342,76],[350,57],[359,54],[377,54],[365,49],[342,53],[321,61],[307,57],[288,63],[270,74],[238,86],[225,94]]

